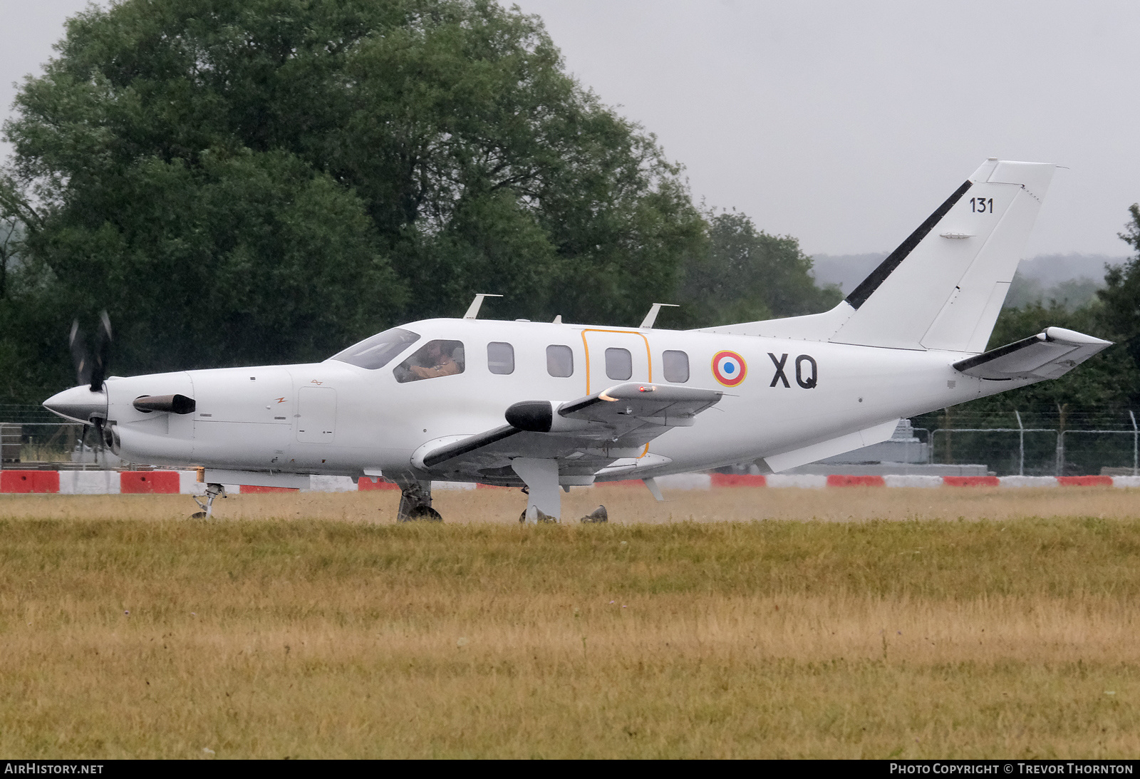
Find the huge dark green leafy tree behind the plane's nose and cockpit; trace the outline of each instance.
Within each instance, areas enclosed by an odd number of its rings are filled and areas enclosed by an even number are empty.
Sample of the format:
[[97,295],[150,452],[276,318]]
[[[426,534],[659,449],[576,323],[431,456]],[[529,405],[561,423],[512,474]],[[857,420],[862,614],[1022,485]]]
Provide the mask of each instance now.
[[700,241],[653,138],[492,2],[125,0],[57,48],[10,175],[121,370],[320,358],[475,291],[628,322]]

